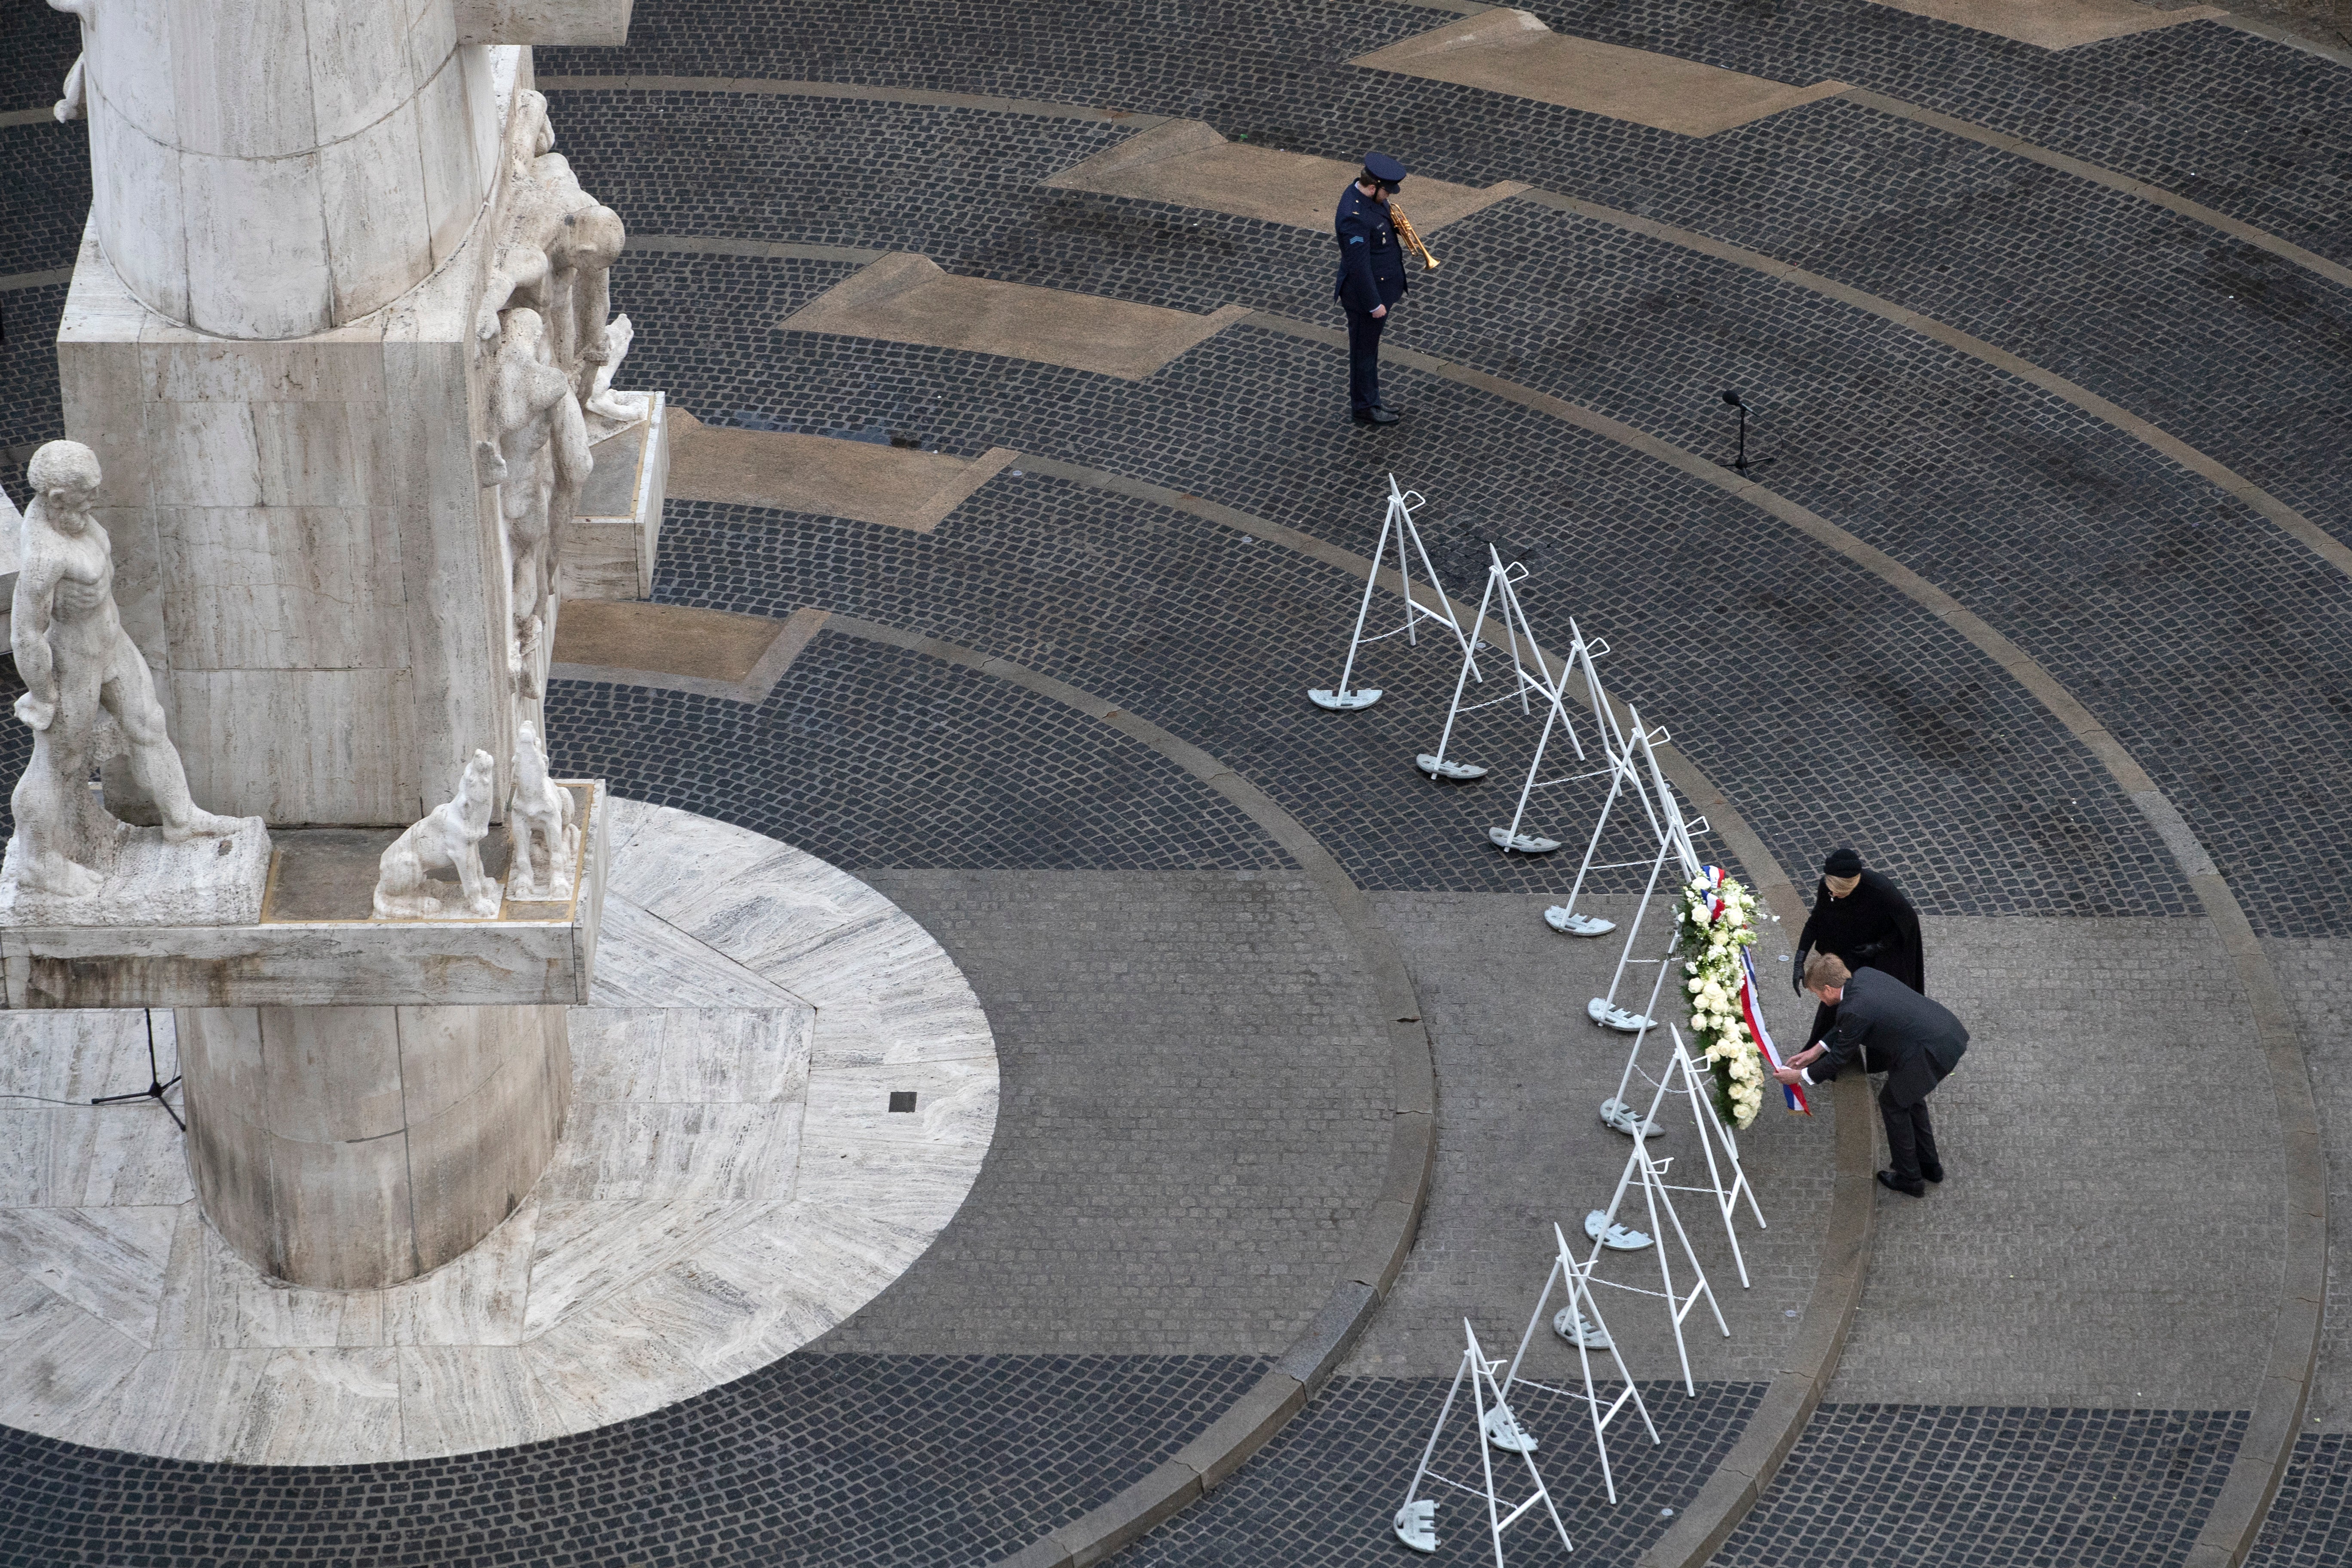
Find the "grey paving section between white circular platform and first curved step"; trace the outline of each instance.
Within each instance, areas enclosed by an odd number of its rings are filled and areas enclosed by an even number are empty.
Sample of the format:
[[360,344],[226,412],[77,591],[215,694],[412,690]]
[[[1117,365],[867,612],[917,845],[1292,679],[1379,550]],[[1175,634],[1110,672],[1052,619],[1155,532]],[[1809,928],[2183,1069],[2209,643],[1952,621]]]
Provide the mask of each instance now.
[[971,978],[997,1143],[924,1258],[823,1349],[1279,1354],[1388,1164],[1388,1032],[1296,875],[863,877]]

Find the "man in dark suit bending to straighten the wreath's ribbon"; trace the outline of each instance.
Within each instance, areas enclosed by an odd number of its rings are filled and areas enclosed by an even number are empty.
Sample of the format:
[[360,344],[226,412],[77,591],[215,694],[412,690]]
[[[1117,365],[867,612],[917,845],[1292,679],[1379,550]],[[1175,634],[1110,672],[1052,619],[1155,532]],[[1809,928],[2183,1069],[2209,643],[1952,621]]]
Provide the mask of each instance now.
[[1788,1058],[1773,1077],[1783,1084],[1828,1084],[1853,1065],[1884,1072],[1879,1117],[1896,1168],[1879,1171],[1879,1185],[1926,1197],[1926,1182],[1943,1180],[1926,1098],[1959,1065],[1969,1030],[1945,1006],[1879,969],[1849,971],[1835,952],[1816,952],[1806,961],[1804,985],[1837,1009],[1837,1027]]

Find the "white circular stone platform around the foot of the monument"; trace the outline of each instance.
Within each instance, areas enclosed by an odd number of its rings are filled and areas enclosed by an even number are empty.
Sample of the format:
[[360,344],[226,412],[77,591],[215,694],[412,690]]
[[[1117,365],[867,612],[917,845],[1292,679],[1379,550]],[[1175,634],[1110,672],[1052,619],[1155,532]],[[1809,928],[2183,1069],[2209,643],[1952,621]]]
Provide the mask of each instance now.
[[[148,1016],[0,1016],[0,1425],[179,1460],[360,1465],[642,1415],[807,1345],[962,1206],[997,1058],[931,936],[847,872],[614,802],[595,1006],[532,1197],[390,1291],[254,1272],[202,1220]],[[172,1016],[153,1013],[172,1074]]]

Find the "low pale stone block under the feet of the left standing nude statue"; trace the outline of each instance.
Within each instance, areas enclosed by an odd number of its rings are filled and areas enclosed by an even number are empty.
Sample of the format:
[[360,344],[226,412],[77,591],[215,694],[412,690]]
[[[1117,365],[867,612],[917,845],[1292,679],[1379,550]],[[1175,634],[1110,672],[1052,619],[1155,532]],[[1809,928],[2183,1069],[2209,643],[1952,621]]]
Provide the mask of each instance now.
[[92,867],[87,898],[19,882],[19,842],[0,858],[0,926],[249,926],[270,884],[270,835],[259,816],[221,839],[167,844],[162,827],[122,825]]

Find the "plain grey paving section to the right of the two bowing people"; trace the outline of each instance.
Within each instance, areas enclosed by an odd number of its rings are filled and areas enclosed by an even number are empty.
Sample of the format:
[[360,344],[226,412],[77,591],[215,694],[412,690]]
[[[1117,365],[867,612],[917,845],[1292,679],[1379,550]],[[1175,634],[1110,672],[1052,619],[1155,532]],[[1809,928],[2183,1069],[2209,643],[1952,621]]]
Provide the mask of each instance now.
[[1926,919],[1969,1025],[1950,1173],[1877,1194],[1839,1403],[2244,1408],[2279,1300],[2279,1124],[2201,919]]

